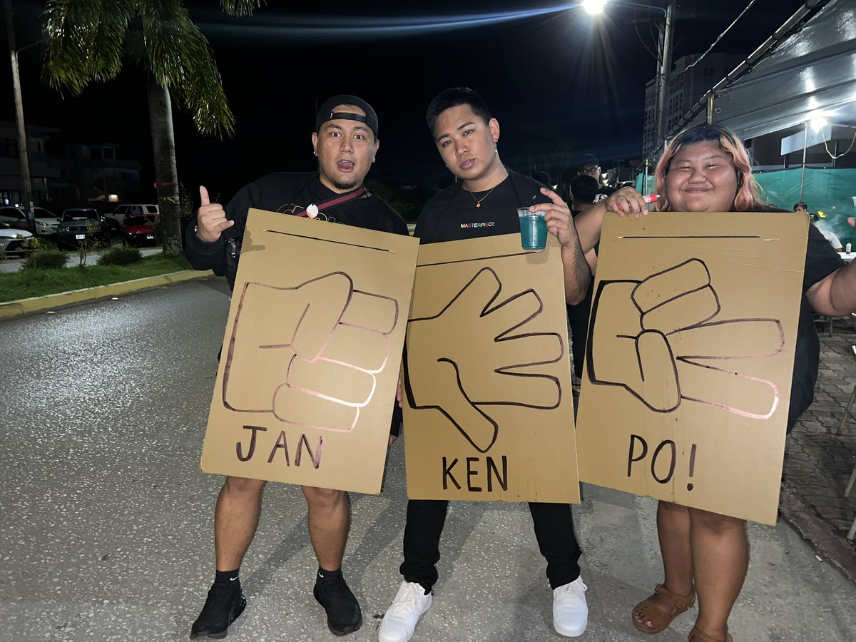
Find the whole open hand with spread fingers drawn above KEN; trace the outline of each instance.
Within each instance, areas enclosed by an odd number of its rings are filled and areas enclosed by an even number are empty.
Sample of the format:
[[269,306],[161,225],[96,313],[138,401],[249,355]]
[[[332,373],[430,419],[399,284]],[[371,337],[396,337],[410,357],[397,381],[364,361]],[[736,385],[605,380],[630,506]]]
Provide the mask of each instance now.
[[411,319],[407,330],[410,406],[439,410],[482,453],[499,432],[491,406],[546,410],[562,400],[558,378],[537,370],[565,356],[562,337],[526,331],[544,310],[538,293],[499,300],[501,289],[496,272],[483,268],[442,310]]

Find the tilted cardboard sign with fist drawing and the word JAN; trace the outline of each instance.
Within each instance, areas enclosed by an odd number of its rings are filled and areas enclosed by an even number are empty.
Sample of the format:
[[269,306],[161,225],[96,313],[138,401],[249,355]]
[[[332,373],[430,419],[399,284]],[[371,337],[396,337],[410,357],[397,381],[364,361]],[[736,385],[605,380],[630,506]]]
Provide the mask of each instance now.
[[380,492],[418,251],[250,210],[205,473]]

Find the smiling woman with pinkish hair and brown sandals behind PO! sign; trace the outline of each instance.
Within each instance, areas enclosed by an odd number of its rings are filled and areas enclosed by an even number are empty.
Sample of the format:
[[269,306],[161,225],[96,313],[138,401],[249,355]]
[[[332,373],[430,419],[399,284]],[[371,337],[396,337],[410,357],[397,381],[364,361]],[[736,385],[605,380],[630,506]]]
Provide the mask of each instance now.
[[[699,125],[678,134],[657,163],[660,211],[782,211],[758,199],[746,147],[727,128]],[[642,194],[624,187],[574,220],[583,252],[600,238],[603,214],[648,213]],[[783,213],[782,216],[793,216]],[[819,342],[811,310],[830,317],[856,310],[856,262],[844,265],[823,235],[808,226],[805,278],[788,414],[788,431],[811,404]],[[594,267],[592,267],[592,272]],[[690,642],[731,642],[728,615],[749,565],[746,521],[673,502],[659,502],[657,534],[663,584],[633,609],[633,626],[660,633],[695,603],[698,618]]]

